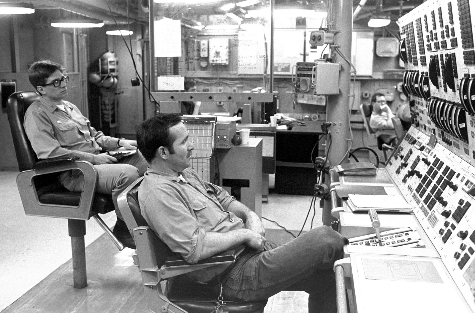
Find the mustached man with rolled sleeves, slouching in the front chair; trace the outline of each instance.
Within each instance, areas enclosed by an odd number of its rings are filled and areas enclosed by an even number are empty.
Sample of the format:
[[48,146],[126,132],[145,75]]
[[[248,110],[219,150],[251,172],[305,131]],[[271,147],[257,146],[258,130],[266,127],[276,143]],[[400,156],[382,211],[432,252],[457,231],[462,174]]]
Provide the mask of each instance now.
[[329,227],[285,245],[266,242],[256,213],[226,190],[189,169],[194,146],[178,114],[159,114],[137,126],[137,144],[150,167],[139,187],[142,215],[173,252],[189,263],[244,244],[231,266],[192,272],[190,278],[226,299],[261,300],[282,290],[309,293],[309,312],[336,312],[333,263],[348,240]]

